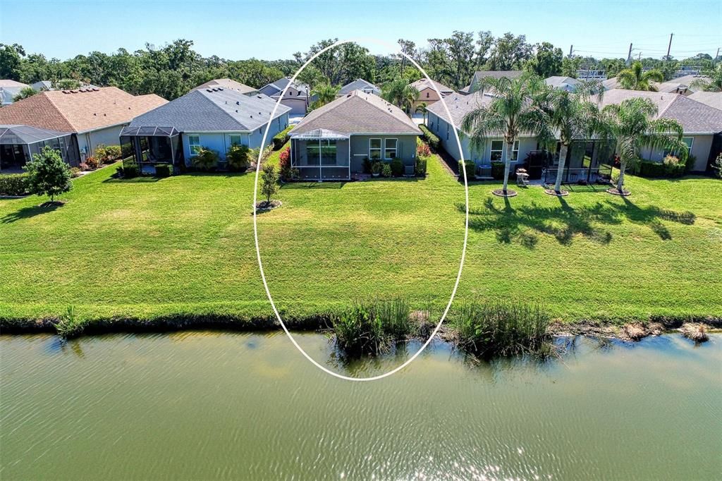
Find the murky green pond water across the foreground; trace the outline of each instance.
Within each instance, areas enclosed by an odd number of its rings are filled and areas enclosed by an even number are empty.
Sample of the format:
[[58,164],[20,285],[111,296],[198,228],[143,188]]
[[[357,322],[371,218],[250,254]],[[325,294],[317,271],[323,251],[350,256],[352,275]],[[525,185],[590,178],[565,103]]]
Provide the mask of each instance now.
[[[352,376],[401,363],[347,363]],[[417,345],[410,345],[413,353]],[[435,342],[371,383],[282,334],[0,337],[0,478],[720,479],[722,336],[576,339],[473,363]]]

